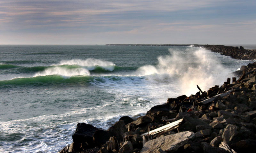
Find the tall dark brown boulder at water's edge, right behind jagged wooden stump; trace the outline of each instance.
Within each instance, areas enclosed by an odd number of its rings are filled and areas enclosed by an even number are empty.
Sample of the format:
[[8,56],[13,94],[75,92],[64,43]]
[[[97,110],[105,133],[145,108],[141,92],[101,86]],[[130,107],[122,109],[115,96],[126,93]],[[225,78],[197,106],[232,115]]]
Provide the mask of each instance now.
[[111,135],[114,135],[117,138],[118,142],[122,142],[123,134],[127,132],[124,121],[120,120],[116,122],[113,126],[108,128],[108,132],[110,132]]

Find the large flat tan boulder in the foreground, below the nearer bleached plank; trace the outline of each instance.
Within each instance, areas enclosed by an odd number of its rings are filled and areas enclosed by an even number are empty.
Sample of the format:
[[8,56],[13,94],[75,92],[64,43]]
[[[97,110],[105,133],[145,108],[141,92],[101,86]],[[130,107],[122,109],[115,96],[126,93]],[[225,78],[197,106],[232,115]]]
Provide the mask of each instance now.
[[159,148],[165,152],[173,152],[179,147],[184,146],[188,140],[194,138],[194,136],[195,134],[189,131],[170,134],[167,136],[161,135],[159,138],[146,142],[141,149],[141,153],[156,152]]

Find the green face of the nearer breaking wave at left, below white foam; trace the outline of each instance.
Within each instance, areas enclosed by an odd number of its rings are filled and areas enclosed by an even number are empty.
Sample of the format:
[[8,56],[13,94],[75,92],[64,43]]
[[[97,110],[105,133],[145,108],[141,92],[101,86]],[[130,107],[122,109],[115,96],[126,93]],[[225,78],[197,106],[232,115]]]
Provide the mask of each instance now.
[[74,76],[70,78],[64,78],[60,75],[47,75],[47,76],[37,76],[31,78],[15,78],[12,80],[2,80],[0,81],[0,87],[6,86],[50,86],[50,85],[60,85],[60,84],[88,84],[93,81],[93,77],[90,76]]

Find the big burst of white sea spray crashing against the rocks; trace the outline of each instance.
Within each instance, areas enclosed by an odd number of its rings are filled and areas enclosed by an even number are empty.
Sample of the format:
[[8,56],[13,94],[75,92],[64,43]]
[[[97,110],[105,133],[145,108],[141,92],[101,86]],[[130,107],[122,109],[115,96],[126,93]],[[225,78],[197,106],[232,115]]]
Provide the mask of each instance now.
[[180,88],[178,93],[186,95],[195,94],[196,85],[206,90],[227,78],[229,70],[221,65],[214,53],[204,48],[190,47],[186,52],[169,51],[171,55],[158,57],[158,65],[142,66],[136,74],[168,83],[170,87],[177,86]]

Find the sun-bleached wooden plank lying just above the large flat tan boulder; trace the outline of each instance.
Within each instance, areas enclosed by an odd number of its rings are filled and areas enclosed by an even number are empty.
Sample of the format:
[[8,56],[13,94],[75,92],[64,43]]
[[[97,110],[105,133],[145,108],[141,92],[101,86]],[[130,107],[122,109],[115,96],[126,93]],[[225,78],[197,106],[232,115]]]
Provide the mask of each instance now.
[[143,136],[143,135],[146,135],[146,134],[154,135],[154,134],[158,134],[160,132],[166,132],[166,131],[174,128],[174,127],[177,128],[181,124],[182,121],[183,121],[183,119],[177,120],[177,121],[172,122],[170,124],[167,124],[165,126],[159,127],[155,130],[152,130],[152,131],[149,131],[147,133],[141,134],[140,136]]

